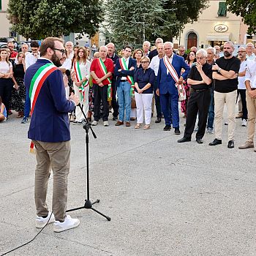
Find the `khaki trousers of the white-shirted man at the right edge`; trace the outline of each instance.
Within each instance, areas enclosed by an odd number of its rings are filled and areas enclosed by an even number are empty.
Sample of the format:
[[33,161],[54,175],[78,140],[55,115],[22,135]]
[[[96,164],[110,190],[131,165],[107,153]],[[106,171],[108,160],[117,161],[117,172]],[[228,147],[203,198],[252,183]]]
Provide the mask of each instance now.
[[256,116],[256,99],[249,97],[246,91],[246,106],[248,110],[247,119],[247,141],[253,142],[255,137],[255,116]]

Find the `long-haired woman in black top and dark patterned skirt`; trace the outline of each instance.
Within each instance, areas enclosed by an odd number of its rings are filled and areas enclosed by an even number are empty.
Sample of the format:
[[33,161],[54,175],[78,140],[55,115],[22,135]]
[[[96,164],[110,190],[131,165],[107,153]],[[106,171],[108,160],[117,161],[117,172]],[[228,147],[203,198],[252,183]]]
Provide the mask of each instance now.
[[15,84],[15,90],[12,90],[12,110],[18,112],[18,118],[23,117],[24,104],[26,99],[26,89],[24,85],[25,75],[25,54],[23,52],[18,53],[17,64],[13,66],[13,81]]

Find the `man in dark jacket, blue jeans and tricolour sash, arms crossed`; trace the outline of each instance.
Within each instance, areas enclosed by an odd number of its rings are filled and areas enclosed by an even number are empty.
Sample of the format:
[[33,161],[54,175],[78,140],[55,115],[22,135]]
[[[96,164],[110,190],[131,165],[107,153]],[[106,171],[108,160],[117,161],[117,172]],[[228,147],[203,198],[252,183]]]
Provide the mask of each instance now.
[[[116,77],[117,96],[119,105],[119,120],[116,126],[124,124],[130,127],[131,114],[131,86],[134,86],[134,75],[136,60],[130,58],[132,48],[127,45],[124,47],[124,57],[116,61],[114,75]],[[124,117],[125,109],[125,117]]]

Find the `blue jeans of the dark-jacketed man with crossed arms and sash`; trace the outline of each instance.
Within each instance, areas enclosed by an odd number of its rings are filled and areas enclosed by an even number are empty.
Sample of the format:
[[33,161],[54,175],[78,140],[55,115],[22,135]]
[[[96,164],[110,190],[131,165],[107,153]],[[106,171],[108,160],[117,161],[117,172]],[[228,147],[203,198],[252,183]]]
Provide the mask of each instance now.
[[[131,85],[129,82],[120,82],[117,86],[117,97],[119,105],[119,120],[129,121],[131,116]],[[125,109],[125,118],[124,118]]]

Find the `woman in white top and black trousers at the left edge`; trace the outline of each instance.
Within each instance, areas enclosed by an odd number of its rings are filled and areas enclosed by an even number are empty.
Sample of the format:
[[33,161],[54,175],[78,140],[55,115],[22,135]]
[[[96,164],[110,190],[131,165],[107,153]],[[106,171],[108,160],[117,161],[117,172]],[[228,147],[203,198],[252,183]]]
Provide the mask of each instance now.
[[7,109],[10,109],[12,97],[12,63],[7,59],[7,49],[0,49],[0,97]]

